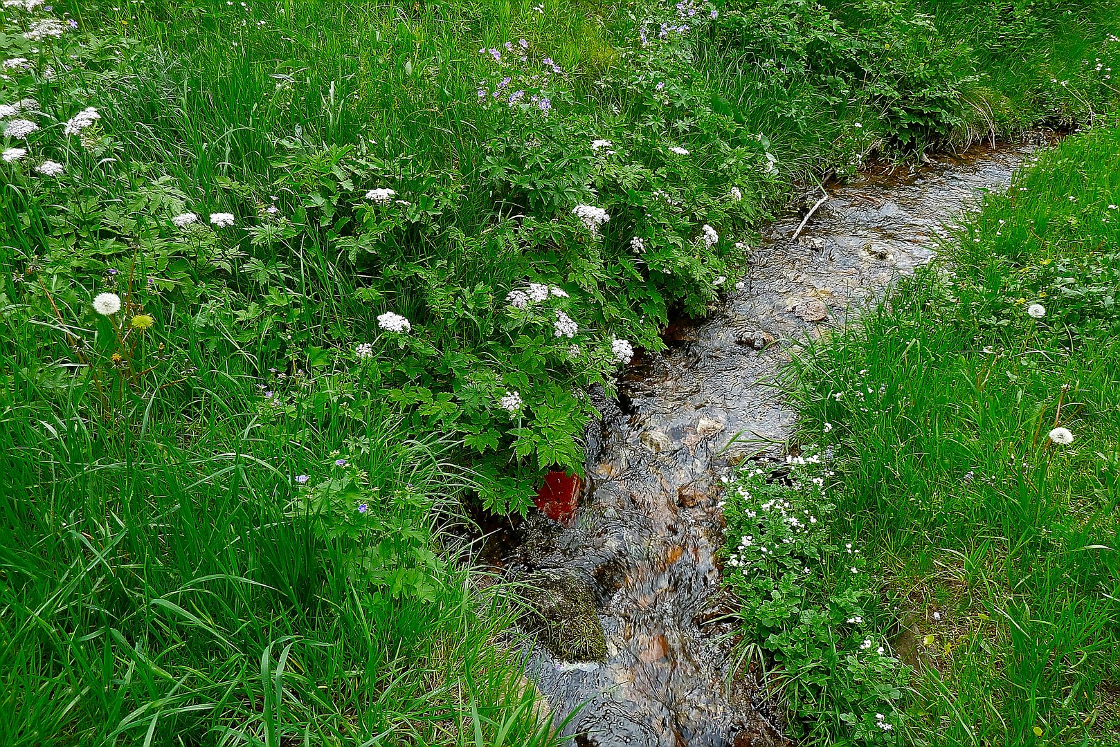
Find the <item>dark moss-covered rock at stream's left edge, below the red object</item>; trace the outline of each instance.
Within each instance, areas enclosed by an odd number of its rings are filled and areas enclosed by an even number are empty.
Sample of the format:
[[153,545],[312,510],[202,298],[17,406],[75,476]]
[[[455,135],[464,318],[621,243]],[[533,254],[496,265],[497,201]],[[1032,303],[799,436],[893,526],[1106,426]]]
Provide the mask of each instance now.
[[520,625],[535,633],[553,656],[567,662],[605,662],[607,642],[588,585],[567,571],[536,573],[525,579],[522,598],[528,608]]

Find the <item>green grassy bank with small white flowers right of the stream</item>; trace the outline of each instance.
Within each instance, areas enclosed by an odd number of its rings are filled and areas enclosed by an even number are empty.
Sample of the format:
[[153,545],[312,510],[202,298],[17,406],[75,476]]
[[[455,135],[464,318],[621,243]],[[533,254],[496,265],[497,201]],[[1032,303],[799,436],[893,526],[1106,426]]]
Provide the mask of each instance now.
[[[1116,129],[1043,152],[965,223],[944,262],[813,346],[797,365],[802,438],[831,463],[799,467],[792,485],[755,468],[729,493],[728,550],[744,569],[730,580],[758,603],[744,622],[763,628],[754,639],[827,744],[1120,735],[1118,157]],[[782,511],[812,498],[820,512],[825,491],[830,531],[776,522],[793,544],[775,548],[775,526],[757,526],[775,524],[775,501]],[[740,538],[752,529],[753,542]],[[848,562],[846,542],[861,562]],[[771,594],[787,581],[775,569],[805,562],[797,594]],[[814,628],[822,614],[831,627]],[[843,679],[853,661],[878,662],[856,644],[869,624],[872,646],[913,665],[912,698],[885,692],[881,674]],[[799,679],[822,661],[833,679]],[[876,721],[896,729],[876,735]]]

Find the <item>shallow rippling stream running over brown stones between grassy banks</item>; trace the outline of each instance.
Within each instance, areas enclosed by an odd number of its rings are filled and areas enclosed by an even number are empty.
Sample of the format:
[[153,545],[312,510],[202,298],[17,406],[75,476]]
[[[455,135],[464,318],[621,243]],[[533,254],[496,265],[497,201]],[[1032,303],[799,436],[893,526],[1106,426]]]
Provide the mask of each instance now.
[[672,327],[670,349],[627,370],[618,403],[599,403],[575,517],[528,521],[503,562],[572,579],[601,624],[605,661],[561,661],[544,645],[528,657],[556,722],[573,713],[563,732],[577,745],[787,744],[778,709],[736,666],[722,617],[734,600],[715,558],[718,477],[729,463],[782,456],[794,412],[773,382],[790,346],[927,262],[944,225],[1005,187],[1029,151],[973,149],[830,187],[797,241],[800,215],[773,224],[745,288],[703,321]]

